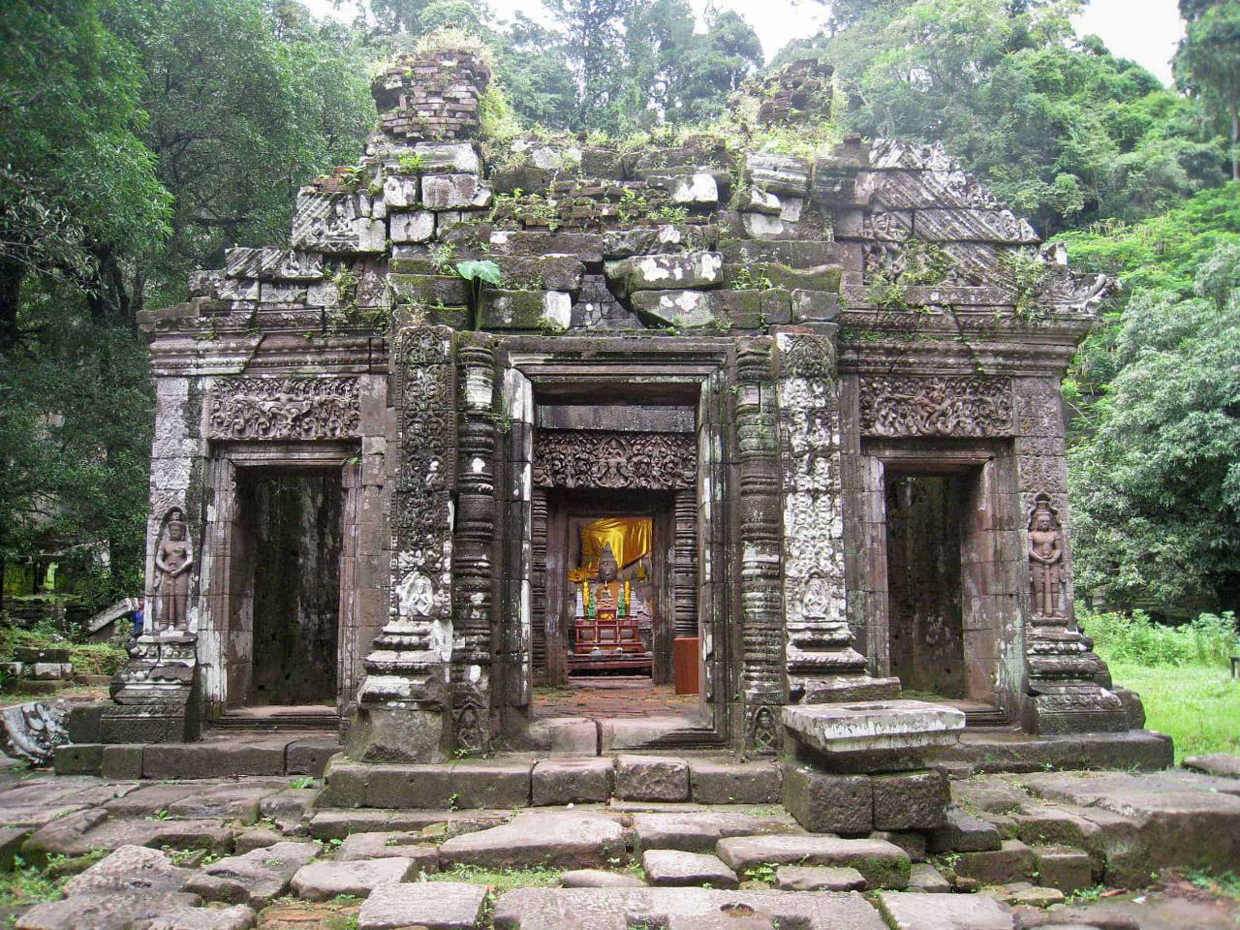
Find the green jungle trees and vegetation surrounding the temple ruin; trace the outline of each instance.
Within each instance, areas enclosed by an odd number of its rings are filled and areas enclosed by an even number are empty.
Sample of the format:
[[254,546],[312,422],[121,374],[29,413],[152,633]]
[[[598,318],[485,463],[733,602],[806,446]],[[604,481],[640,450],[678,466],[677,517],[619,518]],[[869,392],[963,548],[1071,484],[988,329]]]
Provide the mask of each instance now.
[[[1198,687],[1209,732],[1179,739],[1238,748],[1240,688],[1219,670],[1240,653],[1240,0],[1179,0],[1173,86],[1076,35],[1078,0],[835,0],[825,29],[771,61],[743,16],[708,9],[699,26],[688,0],[543,2],[501,20],[482,0],[366,0],[353,21],[295,0],[4,5],[12,615],[86,615],[141,590],[153,396],[135,314],[184,300],[187,273],[231,246],[286,241],[299,185],[360,151],[379,62],[461,29],[489,46],[507,102],[494,136],[636,145],[711,124],[748,78],[815,57],[836,68],[838,104],[808,144],[945,140],[1075,267],[1122,279],[1064,386],[1083,624],[1147,693],[1151,725],[1195,725],[1199,704],[1164,713],[1149,692]],[[46,624],[4,625],[0,649],[56,635]]]

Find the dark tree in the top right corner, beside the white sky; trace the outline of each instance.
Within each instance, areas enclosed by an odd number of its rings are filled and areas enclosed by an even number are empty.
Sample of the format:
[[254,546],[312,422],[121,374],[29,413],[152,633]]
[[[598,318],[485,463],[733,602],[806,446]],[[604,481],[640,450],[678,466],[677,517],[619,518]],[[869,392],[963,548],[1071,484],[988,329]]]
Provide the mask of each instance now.
[[1226,113],[1231,177],[1240,180],[1240,1],[1203,6],[1190,6],[1188,30],[1176,53],[1176,74],[1184,87],[1216,100]]

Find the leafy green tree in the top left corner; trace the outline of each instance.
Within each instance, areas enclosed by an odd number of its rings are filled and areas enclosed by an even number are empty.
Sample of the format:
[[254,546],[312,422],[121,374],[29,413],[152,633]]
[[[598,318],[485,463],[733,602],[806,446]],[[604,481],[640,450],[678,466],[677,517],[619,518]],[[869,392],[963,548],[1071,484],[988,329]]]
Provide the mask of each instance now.
[[[0,15],[0,355],[24,336],[21,289],[55,275],[107,315],[117,257],[153,247],[169,196],[139,133],[141,73],[95,0],[14,0]],[[29,326],[41,325],[27,320]]]

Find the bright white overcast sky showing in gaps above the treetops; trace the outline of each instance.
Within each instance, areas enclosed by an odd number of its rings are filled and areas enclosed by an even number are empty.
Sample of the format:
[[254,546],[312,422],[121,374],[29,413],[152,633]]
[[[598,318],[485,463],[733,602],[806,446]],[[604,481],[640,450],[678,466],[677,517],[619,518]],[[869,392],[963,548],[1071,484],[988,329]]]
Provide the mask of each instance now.
[[[346,0],[335,12],[331,0],[304,0],[316,14],[352,16]],[[709,0],[691,0],[701,16]],[[543,17],[538,0],[490,0],[501,19],[521,10],[532,19]],[[735,10],[753,25],[770,60],[799,36],[812,35],[826,17],[827,7],[813,0],[714,0],[717,9]],[[1171,57],[1184,32],[1176,0],[1092,0],[1076,22],[1081,35],[1096,32],[1116,55],[1145,64],[1163,82],[1171,82]]]

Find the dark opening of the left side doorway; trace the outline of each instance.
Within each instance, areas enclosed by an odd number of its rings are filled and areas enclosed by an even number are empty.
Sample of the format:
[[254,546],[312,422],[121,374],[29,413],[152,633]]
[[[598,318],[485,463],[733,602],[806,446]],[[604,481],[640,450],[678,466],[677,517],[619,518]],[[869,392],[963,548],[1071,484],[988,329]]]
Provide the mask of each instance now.
[[254,470],[241,484],[253,557],[246,703],[335,707],[343,548],[340,471]]

